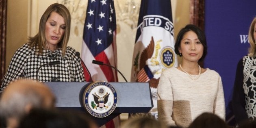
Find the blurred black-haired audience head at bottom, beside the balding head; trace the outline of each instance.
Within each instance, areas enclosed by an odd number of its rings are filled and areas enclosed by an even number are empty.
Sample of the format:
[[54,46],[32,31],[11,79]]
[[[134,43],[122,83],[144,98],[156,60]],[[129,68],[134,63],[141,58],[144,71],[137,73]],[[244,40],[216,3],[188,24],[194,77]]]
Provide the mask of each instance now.
[[84,113],[32,109],[20,121],[19,128],[98,128]]

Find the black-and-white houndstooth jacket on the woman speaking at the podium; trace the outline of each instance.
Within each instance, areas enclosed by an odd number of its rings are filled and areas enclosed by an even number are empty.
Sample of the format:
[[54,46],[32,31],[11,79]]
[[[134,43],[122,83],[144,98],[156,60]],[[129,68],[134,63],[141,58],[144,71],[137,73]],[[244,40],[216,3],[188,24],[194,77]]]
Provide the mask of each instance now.
[[[25,43],[15,52],[7,73],[4,75],[0,93],[4,91],[9,82],[18,78],[28,78],[40,82],[85,81],[80,59],[76,56],[76,51],[73,48],[67,47],[65,56],[62,56],[61,48],[55,51],[43,50],[41,55],[36,52],[36,48],[30,48],[28,43]],[[47,65],[52,61],[60,61],[60,64]]]

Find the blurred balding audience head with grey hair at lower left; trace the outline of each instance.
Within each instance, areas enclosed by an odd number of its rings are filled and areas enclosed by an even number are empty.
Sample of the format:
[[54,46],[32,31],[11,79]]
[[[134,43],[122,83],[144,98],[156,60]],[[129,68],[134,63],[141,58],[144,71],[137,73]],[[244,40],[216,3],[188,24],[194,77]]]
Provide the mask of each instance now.
[[17,80],[1,95],[0,116],[7,127],[15,128],[31,108],[54,108],[54,105],[54,94],[46,85],[34,80]]

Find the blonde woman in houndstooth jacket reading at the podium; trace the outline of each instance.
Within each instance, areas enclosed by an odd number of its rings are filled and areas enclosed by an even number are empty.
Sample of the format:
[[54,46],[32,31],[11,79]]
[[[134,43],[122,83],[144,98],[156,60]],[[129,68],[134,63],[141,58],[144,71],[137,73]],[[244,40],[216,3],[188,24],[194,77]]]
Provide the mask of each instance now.
[[[11,59],[0,93],[9,82],[28,78],[41,82],[83,82],[83,68],[76,51],[67,47],[71,17],[62,4],[52,4],[43,13],[39,32],[28,38]],[[50,62],[59,61],[51,65]],[[49,65],[50,64],[50,65]]]

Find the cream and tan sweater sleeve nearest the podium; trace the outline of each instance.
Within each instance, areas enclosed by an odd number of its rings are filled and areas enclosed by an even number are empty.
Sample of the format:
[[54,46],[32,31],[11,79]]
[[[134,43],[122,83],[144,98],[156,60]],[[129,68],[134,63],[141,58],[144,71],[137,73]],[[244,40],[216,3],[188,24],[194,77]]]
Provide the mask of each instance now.
[[162,74],[157,87],[157,110],[158,120],[165,122],[168,126],[175,126],[171,115],[173,113],[173,93],[171,82]]

